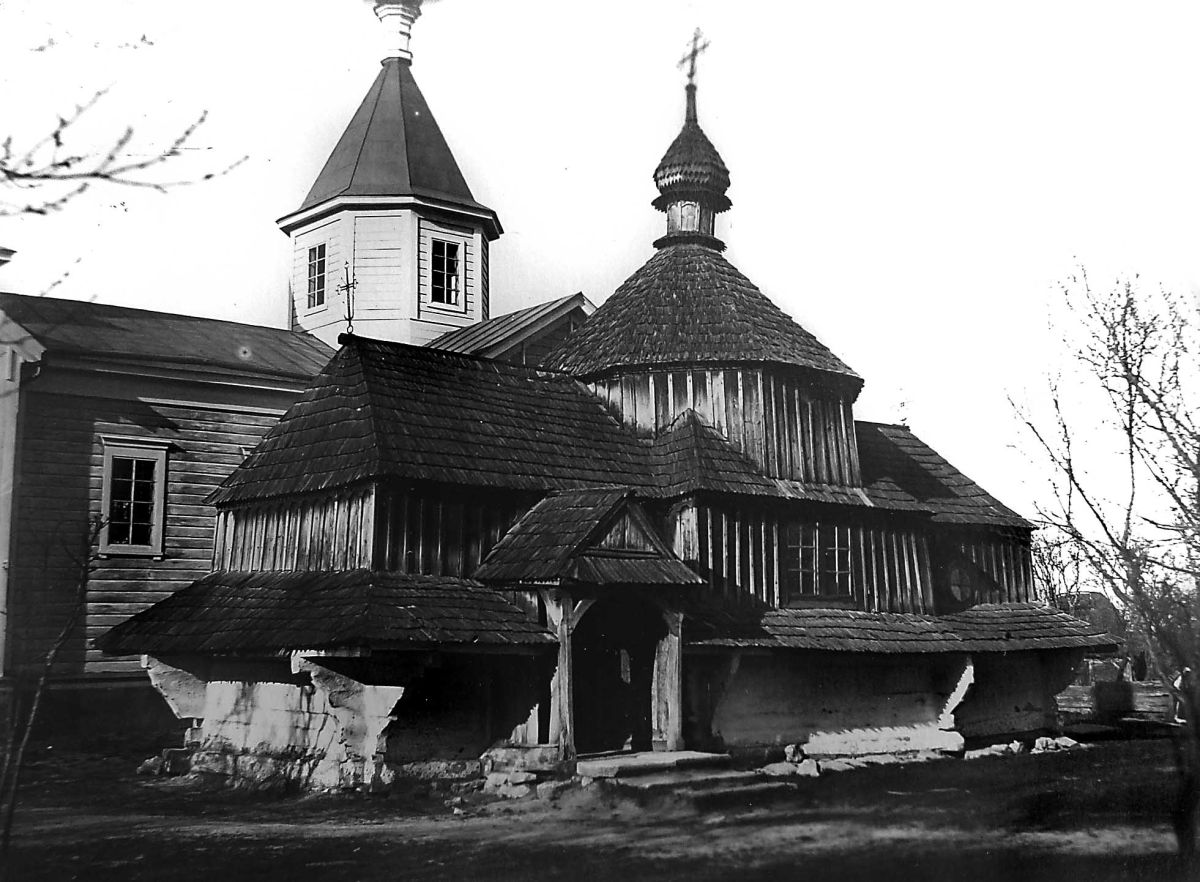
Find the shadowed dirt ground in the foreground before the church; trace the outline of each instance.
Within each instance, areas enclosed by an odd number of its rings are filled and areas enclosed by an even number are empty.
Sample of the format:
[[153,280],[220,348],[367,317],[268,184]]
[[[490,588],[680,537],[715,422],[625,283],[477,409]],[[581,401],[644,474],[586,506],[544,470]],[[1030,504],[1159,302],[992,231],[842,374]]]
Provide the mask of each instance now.
[[769,805],[697,812],[593,793],[455,815],[443,798],[281,797],[30,768],[16,880],[1168,880],[1171,744],[830,774]]

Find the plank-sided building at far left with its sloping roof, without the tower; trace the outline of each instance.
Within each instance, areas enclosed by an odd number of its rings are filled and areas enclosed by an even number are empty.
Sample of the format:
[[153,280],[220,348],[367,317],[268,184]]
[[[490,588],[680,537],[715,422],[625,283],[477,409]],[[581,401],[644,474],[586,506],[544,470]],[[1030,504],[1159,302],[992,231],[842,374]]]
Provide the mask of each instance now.
[[330,355],[305,334],[0,294],[6,684],[73,618],[55,689],[144,689],[136,655],[91,641],[211,569],[209,494]]

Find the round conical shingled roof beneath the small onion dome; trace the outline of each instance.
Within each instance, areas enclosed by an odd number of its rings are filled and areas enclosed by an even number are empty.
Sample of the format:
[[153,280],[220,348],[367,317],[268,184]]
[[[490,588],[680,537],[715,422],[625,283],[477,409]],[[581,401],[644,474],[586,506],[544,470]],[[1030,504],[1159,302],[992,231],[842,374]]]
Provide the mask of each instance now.
[[618,367],[774,362],[862,385],[719,251],[676,244],[655,252],[545,364],[578,377]]

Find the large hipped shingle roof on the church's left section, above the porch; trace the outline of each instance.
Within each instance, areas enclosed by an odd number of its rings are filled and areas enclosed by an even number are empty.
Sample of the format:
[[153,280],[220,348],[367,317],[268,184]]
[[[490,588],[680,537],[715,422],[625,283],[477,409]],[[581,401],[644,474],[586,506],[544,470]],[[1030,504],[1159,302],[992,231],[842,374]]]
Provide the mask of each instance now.
[[343,336],[329,366],[210,498],[373,478],[524,490],[648,485],[647,451],[570,377]]

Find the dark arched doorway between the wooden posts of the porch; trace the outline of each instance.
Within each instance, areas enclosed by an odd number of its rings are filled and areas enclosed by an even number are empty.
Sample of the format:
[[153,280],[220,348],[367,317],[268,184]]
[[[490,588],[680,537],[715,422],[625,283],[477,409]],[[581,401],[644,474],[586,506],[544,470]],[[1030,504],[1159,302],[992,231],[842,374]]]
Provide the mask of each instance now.
[[654,659],[667,635],[662,614],[637,598],[598,600],[571,636],[575,749],[650,750]]

